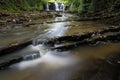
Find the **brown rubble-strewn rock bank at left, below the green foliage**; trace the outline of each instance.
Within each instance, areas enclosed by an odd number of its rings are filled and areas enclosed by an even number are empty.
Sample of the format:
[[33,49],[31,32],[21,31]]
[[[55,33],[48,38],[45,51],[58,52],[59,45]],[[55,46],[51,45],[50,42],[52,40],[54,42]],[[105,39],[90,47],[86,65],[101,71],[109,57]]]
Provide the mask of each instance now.
[[9,24],[23,24],[29,23],[33,20],[43,19],[43,18],[53,18],[54,14],[48,12],[39,12],[39,11],[29,11],[22,13],[1,13],[0,12],[0,24],[9,25]]

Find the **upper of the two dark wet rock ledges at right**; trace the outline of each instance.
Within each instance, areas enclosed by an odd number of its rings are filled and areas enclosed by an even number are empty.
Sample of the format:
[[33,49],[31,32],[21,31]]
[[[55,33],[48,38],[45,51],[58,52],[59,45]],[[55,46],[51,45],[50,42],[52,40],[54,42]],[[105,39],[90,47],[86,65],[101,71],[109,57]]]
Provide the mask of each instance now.
[[[115,41],[120,40],[119,31],[120,31],[120,27],[112,27],[112,28],[99,30],[96,32],[85,33],[82,35],[71,35],[71,36],[63,36],[59,38],[54,38],[54,39],[51,39],[45,42],[45,44],[54,46],[54,44],[61,44],[61,43],[67,43],[67,42],[75,43],[75,42],[80,42],[84,40],[89,41],[89,44],[91,45],[96,44],[97,42],[107,42],[107,41],[115,42]],[[112,33],[118,32],[118,34],[111,34],[108,36],[103,35],[108,32],[112,32]],[[99,36],[99,37],[96,37],[96,36]]]

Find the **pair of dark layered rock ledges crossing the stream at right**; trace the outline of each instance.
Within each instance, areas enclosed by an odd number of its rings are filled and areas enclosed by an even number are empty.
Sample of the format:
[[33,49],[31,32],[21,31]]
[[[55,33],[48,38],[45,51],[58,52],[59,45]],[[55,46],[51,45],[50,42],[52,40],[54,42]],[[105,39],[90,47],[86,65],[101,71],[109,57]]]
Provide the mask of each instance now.
[[[111,27],[96,32],[85,33],[81,35],[63,36],[44,42],[45,45],[51,47],[53,50],[70,50],[82,46],[95,46],[105,44],[107,42],[120,41],[120,27]],[[112,33],[105,35],[107,33]],[[57,46],[56,46],[57,45]]]

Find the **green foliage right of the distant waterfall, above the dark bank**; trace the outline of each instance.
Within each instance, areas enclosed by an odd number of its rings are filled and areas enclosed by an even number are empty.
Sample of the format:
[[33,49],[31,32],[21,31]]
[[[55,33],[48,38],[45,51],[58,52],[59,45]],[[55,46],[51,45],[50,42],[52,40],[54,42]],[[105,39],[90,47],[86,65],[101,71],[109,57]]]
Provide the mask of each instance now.
[[112,11],[120,7],[120,0],[68,0],[68,3],[70,11],[79,13]]

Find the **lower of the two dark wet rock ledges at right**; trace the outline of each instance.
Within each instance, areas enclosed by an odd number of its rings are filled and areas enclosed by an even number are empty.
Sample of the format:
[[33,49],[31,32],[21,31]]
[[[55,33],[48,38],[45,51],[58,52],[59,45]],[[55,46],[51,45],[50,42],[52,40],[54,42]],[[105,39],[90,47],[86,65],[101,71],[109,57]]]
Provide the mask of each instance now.
[[[72,39],[72,37],[71,37]],[[76,40],[78,38],[75,38]],[[83,47],[83,46],[96,46],[98,44],[101,43],[105,43],[105,42],[119,42],[120,41],[120,33],[118,34],[112,34],[112,35],[108,35],[108,36],[100,36],[97,38],[88,38],[88,39],[83,39],[81,41],[74,41],[68,45],[63,45],[63,46],[59,46],[59,47],[55,47],[52,46],[51,49],[53,50],[59,50],[59,51],[64,51],[64,50],[71,50],[74,49],[76,47]]]

